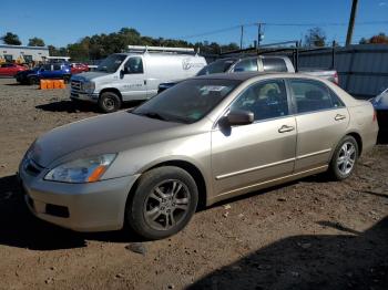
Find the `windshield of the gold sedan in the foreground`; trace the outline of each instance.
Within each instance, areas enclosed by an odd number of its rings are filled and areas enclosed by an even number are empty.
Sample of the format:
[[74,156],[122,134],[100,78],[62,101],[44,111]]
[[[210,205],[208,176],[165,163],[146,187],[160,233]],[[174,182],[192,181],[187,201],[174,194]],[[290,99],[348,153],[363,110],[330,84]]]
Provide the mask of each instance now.
[[239,83],[236,80],[187,80],[130,113],[170,122],[194,123],[207,115]]

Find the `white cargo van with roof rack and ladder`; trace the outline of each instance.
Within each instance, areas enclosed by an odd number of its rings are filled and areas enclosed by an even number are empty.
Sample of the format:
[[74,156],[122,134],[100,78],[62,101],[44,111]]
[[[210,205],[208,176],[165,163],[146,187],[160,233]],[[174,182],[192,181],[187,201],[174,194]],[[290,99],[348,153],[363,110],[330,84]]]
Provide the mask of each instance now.
[[129,53],[115,53],[93,72],[71,77],[70,99],[98,103],[105,112],[114,112],[122,102],[146,100],[169,80],[195,75],[206,60],[194,49],[130,45]]

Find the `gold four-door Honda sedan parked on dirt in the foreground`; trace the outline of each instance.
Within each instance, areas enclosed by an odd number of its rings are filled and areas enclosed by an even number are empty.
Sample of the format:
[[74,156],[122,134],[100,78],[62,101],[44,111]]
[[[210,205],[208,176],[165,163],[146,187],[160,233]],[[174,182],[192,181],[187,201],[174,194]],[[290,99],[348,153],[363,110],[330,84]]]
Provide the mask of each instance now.
[[41,219],[79,231],[126,224],[160,239],[198,205],[324,172],[347,178],[377,132],[372,105],[325,80],[213,74],[52,130],[28,149],[19,176]]

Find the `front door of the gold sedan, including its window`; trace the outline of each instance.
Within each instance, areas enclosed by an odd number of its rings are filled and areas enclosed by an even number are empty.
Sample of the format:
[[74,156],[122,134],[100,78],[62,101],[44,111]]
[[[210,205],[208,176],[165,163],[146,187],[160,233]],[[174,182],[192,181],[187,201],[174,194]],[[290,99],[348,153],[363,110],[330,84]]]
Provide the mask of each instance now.
[[216,195],[241,194],[292,174],[296,148],[296,121],[289,114],[283,80],[247,87],[231,110],[254,113],[255,122],[212,132],[212,167]]

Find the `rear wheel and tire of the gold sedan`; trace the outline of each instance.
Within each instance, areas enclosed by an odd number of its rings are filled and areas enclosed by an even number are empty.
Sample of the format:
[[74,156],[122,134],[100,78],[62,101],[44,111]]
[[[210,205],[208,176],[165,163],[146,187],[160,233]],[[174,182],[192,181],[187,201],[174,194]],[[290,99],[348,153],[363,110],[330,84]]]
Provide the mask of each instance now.
[[329,176],[335,180],[348,178],[355,170],[359,149],[357,141],[353,136],[345,136],[337,145],[330,164]]

